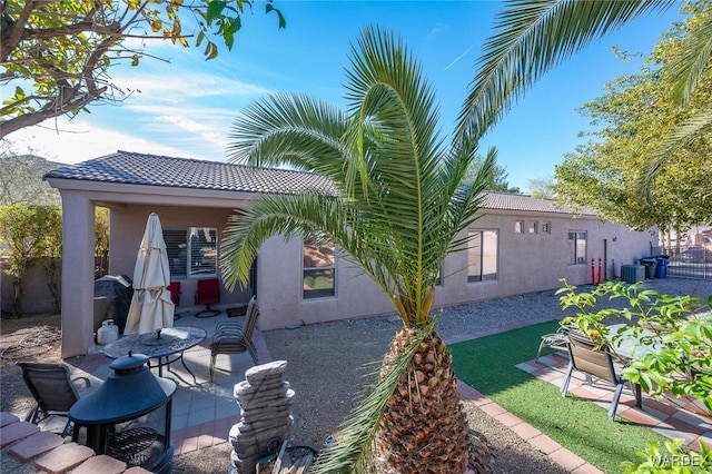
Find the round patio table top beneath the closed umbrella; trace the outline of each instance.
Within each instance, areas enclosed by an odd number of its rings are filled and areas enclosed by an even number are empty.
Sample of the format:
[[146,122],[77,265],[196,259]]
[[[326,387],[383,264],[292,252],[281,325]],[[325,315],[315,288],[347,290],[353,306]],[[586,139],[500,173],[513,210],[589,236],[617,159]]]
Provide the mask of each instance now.
[[107,344],[102,352],[103,355],[111,358],[128,355],[129,350],[132,354],[144,354],[151,358],[166,357],[197,346],[205,340],[208,333],[200,327],[176,326],[164,328],[160,335],[161,338],[166,338],[166,343],[160,343],[156,338],[156,333],[121,336]]

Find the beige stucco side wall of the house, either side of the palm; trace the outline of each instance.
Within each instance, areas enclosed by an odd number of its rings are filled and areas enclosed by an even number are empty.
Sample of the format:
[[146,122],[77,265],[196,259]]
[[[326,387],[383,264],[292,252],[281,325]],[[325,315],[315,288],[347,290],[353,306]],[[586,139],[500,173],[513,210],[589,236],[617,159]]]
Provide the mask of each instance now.
[[[514,223],[538,223],[538,234],[515,234]],[[542,234],[544,221],[551,223],[551,234]],[[650,255],[656,236],[635,233],[624,226],[603,224],[594,217],[573,219],[567,215],[488,211],[474,229],[498,231],[498,275],[493,282],[467,283],[467,254],[455,253],[444,265],[444,284],[436,289],[436,306],[463,304],[561,287],[560,278],[570,284],[591,283],[591,258],[604,258],[607,245],[606,277],[620,275],[621,264],[636,263]],[[585,265],[568,265],[568,231],[585,230],[587,255]],[[613,240],[615,238],[615,241]],[[615,261],[613,261],[615,260]],[[614,267],[615,264],[615,267]],[[314,324],[394,313],[380,289],[347,260],[337,259],[336,296],[319,299],[301,297],[301,239],[284,241],[274,238],[259,254],[257,295],[260,304],[260,327],[280,328],[288,324]]]

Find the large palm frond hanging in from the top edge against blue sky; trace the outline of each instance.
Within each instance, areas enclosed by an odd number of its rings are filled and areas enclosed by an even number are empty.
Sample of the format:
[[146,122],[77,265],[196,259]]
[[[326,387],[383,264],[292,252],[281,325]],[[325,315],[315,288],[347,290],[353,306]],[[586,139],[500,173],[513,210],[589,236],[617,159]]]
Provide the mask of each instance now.
[[511,0],[477,60],[457,135],[481,138],[545,72],[593,40],[674,0]]

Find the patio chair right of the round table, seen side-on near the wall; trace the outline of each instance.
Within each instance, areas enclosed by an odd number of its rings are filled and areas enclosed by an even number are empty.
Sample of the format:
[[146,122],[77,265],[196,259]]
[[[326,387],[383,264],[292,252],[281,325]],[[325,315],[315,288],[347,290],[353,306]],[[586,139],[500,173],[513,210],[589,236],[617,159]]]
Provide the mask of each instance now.
[[231,322],[218,323],[216,325],[215,336],[210,344],[210,381],[212,381],[215,361],[220,354],[241,354],[248,352],[255,365],[258,364],[257,347],[253,343],[253,333],[257,326],[258,317],[259,307],[257,306],[257,298],[253,296],[247,305],[244,326]]

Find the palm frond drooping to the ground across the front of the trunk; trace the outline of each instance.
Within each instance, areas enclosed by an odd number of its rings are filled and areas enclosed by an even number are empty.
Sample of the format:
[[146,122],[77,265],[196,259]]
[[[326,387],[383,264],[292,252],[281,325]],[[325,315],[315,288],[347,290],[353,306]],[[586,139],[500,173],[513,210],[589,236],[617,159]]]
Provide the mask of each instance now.
[[342,423],[336,434],[336,445],[325,448],[312,467],[314,474],[373,473],[373,440],[390,395],[400,376],[412,364],[419,344],[433,333],[442,312],[427,326],[417,332],[398,358],[384,366],[377,381],[366,387],[362,399]]

